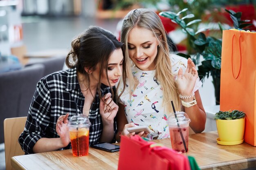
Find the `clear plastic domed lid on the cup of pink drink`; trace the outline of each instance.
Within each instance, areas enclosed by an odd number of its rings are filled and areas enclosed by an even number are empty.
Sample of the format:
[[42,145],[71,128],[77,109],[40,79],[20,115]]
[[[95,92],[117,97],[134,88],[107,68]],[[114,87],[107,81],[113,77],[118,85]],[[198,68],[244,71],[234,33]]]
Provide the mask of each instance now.
[[[177,119],[176,119],[177,117]],[[171,113],[168,116],[167,124],[168,125],[177,125],[177,120],[180,125],[182,124],[188,124],[190,122],[189,116],[182,111],[176,111],[176,116],[174,113]]]

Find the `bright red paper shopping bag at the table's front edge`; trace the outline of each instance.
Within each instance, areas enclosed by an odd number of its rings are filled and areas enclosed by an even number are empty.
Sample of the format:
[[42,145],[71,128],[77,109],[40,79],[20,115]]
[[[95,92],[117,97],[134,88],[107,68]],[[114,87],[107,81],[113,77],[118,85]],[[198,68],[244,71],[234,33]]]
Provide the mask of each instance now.
[[[171,142],[171,141],[170,141]],[[189,160],[138,135],[121,137],[118,170],[190,170]]]

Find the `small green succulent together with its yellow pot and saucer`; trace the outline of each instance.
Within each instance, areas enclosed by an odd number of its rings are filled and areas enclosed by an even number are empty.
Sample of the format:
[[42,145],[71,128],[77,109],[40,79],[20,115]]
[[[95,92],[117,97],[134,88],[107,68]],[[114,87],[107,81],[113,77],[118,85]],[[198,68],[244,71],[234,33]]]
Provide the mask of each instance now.
[[239,110],[219,111],[216,120],[220,145],[238,145],[244,141],[245,113]]

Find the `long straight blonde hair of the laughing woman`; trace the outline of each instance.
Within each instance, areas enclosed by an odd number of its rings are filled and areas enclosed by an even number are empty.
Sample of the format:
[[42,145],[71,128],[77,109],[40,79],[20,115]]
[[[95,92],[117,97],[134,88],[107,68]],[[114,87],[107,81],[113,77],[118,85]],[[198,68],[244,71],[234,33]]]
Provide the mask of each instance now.
[[130,84],[130,91],[134,90],[138,84],[138,80],[133,77],[131,72],[131,66],[133,66],[134,63],[128,57],[128,34],[134,27],[147,29],[157,38],[159,48],[157,50],[157,56],[155,57],[155,76],[163,88],[164,97],[162,107],[164,107],[165,111],[172,112],[171,101],[173,100],[175,110],[180,110],[179,91],[177,82],[172,73],[166,32],[159,16],[149,9],[134,9],[130,11],[124,18],[121,29],[121,42],[126,45],[126,76]]

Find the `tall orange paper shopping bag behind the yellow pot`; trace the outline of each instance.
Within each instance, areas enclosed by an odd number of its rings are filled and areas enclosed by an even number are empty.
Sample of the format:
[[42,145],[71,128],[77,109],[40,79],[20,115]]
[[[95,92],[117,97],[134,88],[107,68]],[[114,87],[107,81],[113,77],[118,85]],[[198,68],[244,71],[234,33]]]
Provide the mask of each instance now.
[[244,141],[256,146],[256,33],[224,30],[220,110],[245,112]]

